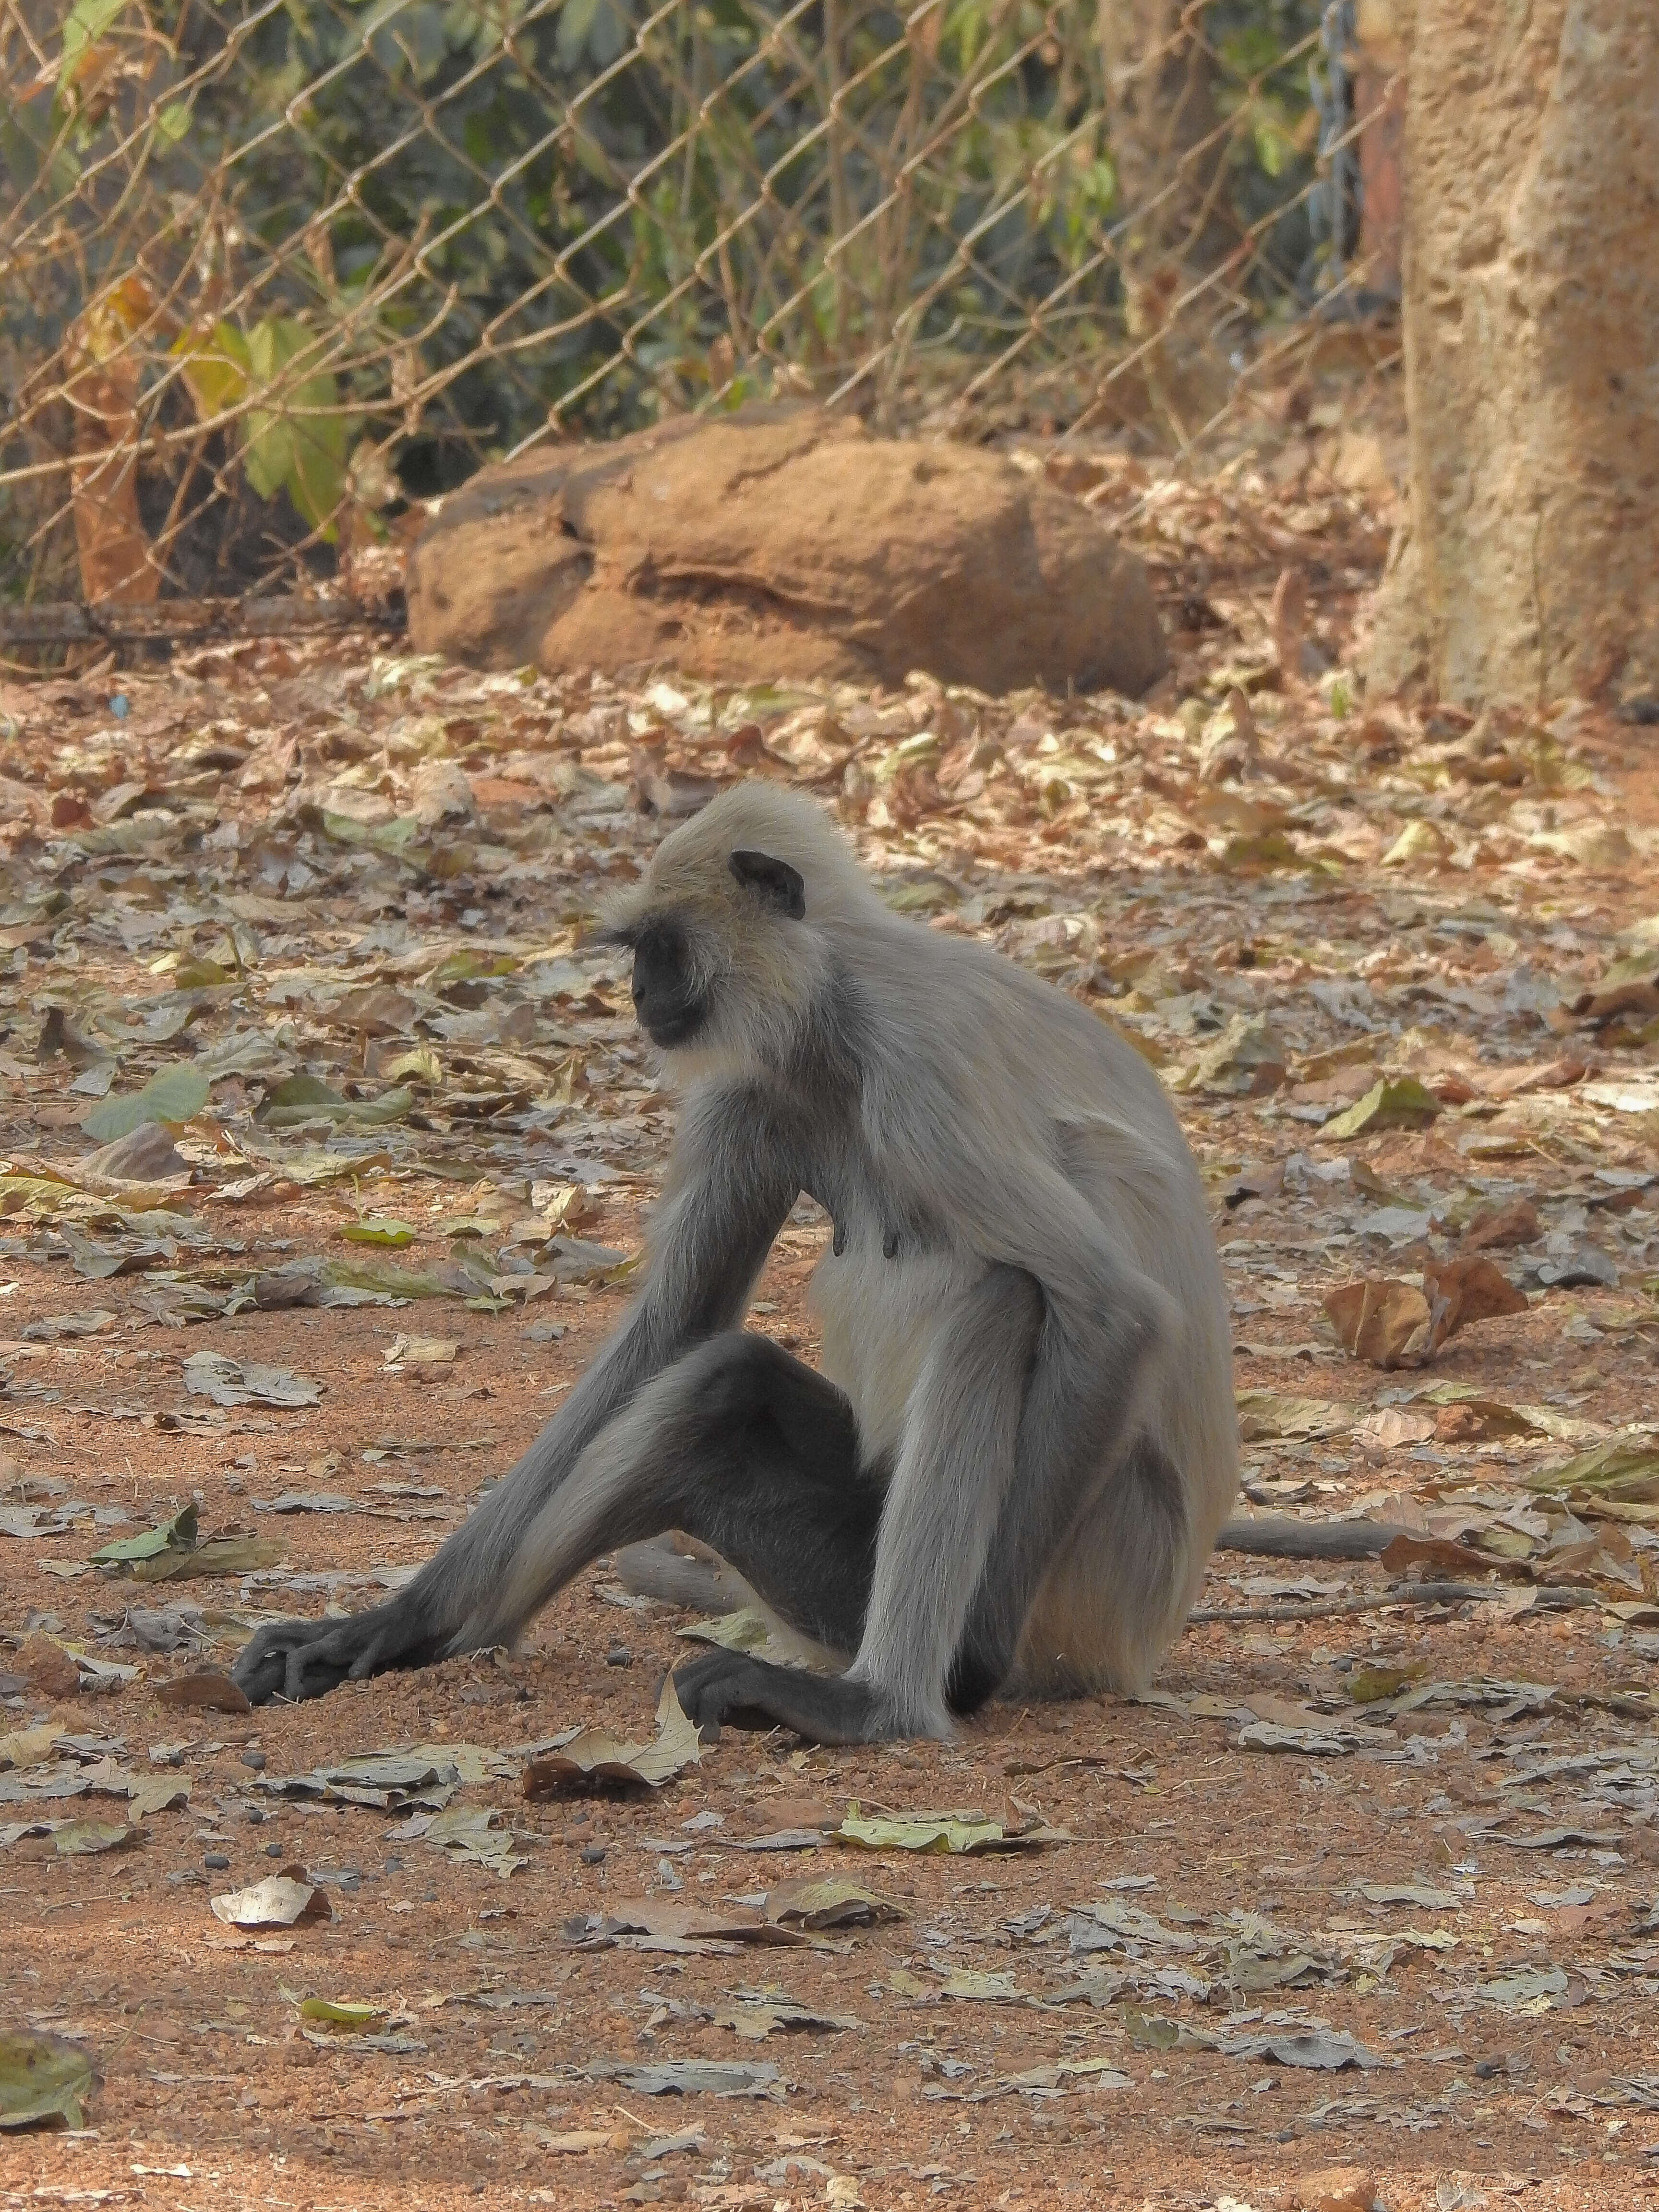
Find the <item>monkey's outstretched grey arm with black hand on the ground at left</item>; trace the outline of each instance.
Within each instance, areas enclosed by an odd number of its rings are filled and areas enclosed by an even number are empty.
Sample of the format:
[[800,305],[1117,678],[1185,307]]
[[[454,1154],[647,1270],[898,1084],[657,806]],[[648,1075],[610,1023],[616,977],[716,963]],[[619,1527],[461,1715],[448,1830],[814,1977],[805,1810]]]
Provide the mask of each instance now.
[[257,1705],[279,1692],[321,1697],[341,1681],[427,1666],[522,1628],[522,1617],[502,1615],[500,1597],[524,1531],[641,1383],[741,1321],[799,1190],[794,1146],[759,1097],[721,1091],[692,1102],[653,1223],[644,1287],[524,1458],[383,1606],[345,1621],[261,1628],[232,1668],[239,1688]]

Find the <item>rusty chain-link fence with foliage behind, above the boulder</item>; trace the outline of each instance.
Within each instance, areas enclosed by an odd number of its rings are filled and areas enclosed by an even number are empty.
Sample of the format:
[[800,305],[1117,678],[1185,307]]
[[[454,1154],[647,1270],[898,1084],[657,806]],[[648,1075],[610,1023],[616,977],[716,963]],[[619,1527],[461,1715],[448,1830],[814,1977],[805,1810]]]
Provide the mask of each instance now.
[[367,588],[480,460],[748,396],[1192,447],[1389,290],[1352,15],[0,0],[0,608]]

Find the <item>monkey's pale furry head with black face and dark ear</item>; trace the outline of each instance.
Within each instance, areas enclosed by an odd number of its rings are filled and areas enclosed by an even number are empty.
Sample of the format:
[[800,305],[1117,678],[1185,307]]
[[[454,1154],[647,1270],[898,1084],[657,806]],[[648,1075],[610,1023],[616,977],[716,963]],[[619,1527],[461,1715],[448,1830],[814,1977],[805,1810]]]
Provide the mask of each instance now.
[[792,1057],[832,978],[830,929],[878,905],[825,814],[796,792],[739,783],[672,830],[641,880],[606,905],[633,949],[650,1042],[690,1073]]

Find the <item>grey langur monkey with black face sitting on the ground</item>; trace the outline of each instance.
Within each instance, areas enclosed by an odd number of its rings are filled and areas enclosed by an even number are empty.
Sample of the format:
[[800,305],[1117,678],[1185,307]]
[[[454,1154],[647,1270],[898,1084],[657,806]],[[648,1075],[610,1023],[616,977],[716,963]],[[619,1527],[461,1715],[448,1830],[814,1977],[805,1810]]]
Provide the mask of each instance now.
[[[257,1703],[511,1641],[599,1553],[677,1528],[814,1674],[679,1670],[714,1734],[949,1736],[998,1690],[1139,1690],[1237,1489],[1221,1267],[1164,1091],[998,953],[891,914],[765,783],[672,830],[608,918],[684,1086],[644,1287],[507,1480],[394,1597],[281,1621]],[[823,1374],[743,1329],[801,1192],[834,1223]]]

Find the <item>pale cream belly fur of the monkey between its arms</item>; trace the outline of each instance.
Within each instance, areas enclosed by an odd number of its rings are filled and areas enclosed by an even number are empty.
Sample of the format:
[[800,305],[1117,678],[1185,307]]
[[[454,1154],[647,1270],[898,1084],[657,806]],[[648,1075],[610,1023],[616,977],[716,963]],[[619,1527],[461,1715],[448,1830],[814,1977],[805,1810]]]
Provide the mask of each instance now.
[[894,1453],[927,1347],[949,1305],[984,1274],[984,1263],[949,1248],[883,1252],[883,1237],[849,1237],[812,1272],[807,1303],[823,1332],[823,1371],[858,1418],[865,1458]]

